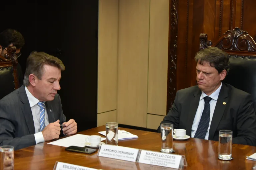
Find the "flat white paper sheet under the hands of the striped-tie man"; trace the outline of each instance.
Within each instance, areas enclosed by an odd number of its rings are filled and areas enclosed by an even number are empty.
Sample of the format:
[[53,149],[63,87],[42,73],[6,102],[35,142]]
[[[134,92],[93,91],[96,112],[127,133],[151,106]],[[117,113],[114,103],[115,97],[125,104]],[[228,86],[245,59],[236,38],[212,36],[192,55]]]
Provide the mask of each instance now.
[[[47,144],[52,144],[52,145],[58,145],[58,146],[64,146],[64,147],[69,147],[69,146],[80,146],[84,147],[86,143],[86,138],[89,137],[89,135],[84,135],[84,134],[75,134],[73,136],[69,136],[63,139],[59,139]],[[105,137],[101,138],[102,140],[105,140]]]

